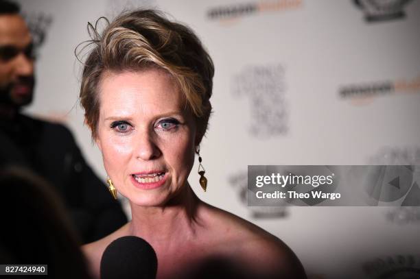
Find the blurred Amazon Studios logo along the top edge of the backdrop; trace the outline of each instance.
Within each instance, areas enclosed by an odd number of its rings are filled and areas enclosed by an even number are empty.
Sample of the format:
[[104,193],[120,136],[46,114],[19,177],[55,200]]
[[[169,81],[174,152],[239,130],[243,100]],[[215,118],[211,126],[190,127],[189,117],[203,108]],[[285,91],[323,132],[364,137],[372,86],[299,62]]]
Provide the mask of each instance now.
[[249,16],[261,12],[291,10],[301,6],[301,0],[258,1],[237,3],[210,8],[207,12],[209,19],[230,19],[233,17]]

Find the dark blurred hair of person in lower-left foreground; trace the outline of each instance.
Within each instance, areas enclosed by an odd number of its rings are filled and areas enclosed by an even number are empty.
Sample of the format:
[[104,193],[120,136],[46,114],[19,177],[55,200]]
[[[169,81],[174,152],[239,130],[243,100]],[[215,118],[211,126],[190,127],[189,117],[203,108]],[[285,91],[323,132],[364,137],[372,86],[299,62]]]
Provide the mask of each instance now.
[[0,264],[48,265],[49,278],[90,278],[75,231],[52,187],[18,167],[0,171],[0,187]]

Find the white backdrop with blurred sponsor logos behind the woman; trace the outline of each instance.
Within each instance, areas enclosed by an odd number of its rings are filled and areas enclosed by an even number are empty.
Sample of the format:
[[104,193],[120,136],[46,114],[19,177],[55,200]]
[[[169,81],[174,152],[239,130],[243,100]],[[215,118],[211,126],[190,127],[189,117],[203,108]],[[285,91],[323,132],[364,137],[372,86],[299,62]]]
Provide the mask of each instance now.
[[[247,165],[420,165],[420,1],[20,2],[29,16],[52,19],[27,113],[65,122],[100,177],[102,158],[78,106],[74,49],[89,38],[88,21],[158,8],[192,27],[215,63],[201,146],[207,193],[195,172],[189,178],[201,199],[279,236],[314,278],[420,269],[419,208],[261,209],[242,198]],[[253,8],[240,12],[244,5]],[[369,12],[397,10],[405,16],[366,21]]]

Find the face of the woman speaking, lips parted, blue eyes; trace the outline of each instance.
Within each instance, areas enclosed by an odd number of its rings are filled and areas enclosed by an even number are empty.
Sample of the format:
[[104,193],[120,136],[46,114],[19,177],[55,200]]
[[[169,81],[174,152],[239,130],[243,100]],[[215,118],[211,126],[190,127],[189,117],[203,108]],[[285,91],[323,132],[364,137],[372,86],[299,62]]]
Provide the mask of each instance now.
[[196,123],[169,74],[104,73],[97,145],[117,191],[139,206],[162,206],[194,164]]

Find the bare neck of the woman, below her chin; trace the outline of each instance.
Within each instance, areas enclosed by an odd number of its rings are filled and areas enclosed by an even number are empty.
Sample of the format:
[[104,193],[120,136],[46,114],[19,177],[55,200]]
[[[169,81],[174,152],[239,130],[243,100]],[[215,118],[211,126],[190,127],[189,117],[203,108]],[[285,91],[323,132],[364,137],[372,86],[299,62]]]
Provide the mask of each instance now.
[[167,205],[144,207],[131,204],[130,234],[150,242],[153,247],[170,249],[179,239],[194,239],[202,224],[198,217],[200,199],[187,183]]

